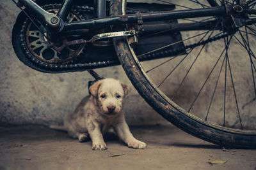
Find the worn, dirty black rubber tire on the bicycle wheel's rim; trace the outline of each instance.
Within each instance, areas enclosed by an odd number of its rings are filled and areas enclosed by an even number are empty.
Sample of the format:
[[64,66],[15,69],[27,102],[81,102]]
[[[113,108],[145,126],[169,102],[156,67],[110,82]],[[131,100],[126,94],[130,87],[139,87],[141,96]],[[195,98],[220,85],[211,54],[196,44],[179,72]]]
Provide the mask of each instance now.
[[[111,0],[111,15],[122,15],[125,1]],[[123,8],[122,8],[123,7]],[[120,27],[115,29],[121,29]],[[124,29],[124,27],[122,28]],[[256,131],[211,124],[195,117],[171,101],[150,81],[126,38],[113,38],[116,54],[138,93],[154,110],[173,125],[189,134],[225,148],[256,148]]]

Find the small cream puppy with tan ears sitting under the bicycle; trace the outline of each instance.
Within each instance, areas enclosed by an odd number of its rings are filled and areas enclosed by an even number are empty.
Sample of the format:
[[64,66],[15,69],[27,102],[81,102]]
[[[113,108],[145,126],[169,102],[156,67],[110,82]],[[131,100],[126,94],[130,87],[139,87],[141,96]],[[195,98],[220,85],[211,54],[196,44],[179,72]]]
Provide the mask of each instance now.
[[146,144],[135,139],[125,122],[124,99],[128,94],[127,85],[113,78],[94,83],[76,110],[64,118],[68,134],[80,142],[92,139],[93,150],[106,150],[103,134],[113,127],[116,135],[128,147],[145,148]]

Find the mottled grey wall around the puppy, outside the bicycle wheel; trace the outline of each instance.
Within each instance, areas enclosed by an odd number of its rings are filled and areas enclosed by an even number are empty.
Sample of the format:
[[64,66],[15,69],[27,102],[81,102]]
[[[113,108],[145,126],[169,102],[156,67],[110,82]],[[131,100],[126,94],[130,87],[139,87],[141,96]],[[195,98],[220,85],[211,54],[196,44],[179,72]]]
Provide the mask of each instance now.
[[[63,117],[88,95],[88,81],[93,78],[87,71],[40,73],[20,62],[11,42],[12,27],[19,12],[12,1],[0,1],[0,124],[61,124]],[[168,124],[138,95],[121,66],[96,71],[129,85],[131,92],[125,107],[129,124]]]

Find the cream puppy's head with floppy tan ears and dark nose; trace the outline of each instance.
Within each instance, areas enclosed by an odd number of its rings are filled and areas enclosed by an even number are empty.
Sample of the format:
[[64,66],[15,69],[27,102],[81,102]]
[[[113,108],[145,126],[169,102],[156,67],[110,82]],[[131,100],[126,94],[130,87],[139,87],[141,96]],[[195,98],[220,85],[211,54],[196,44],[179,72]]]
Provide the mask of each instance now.
[[128,93],[127,85],[113,78],[97,81],[90,87],[95,104],[106,115],[115,115],[122,110],[124,97]]

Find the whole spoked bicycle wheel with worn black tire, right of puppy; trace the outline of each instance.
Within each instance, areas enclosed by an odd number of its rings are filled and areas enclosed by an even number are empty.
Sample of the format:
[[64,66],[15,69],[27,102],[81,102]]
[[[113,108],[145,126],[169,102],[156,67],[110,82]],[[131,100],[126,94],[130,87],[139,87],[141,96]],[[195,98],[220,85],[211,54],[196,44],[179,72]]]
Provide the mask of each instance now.
[[[233,1],[222,2],[234,3]],[[180,8],[198,8],[198,6],[205,8],[214,5],[199,1],[191,1],[191,3],[195,5],[192,7],[175,5]],[[188,4],[187,1],[186,4]],[[255,1],[252,1],[252,4],[249,4],[250,8],[254,8],[255,4]],[[110,10],[114,16],[124,15],[125,1],[112,0]],[[254,18],[255,15],[250,17]],[[195,23],[211,20],[210,18],[193,18],[186,21]],[[220,17],[218,20],[223,22],[224,18]],[[227,26],[224,25],[224,27]],[[253,130],[255,125],[253,120],[256,120],[256,57],[254,55],[256,43],[252,38],[256,36],[255,30],[255,24],[253,24],[241,27],[228,35],[225,34],[227,32],[225,29],[220,31],[212,29],[205,34],[201,34],[200,31],[182,32],[182,38],[188,39],[187,46],[195,43],[196,40],[197,46],[190,46],[186,49],[186,53],[170,59],[154,60],[154,66],[148,62],[141,63],[126,38],[114,38],[113,41],[120,63],[132,85],[166,120],[193,136],[220,146],[256,148],[256,131]],[[203,36],[198,38],[196,35]],[[217,38],[220,35],[223,36]],[[185,36],[193,38],[189,39]],[[206,40],[211,38],[216,38],[216,41],[209,45]],[[221,43],[223,46],[219,48]],[[239,51],[242,55],[239,59],[236,59],[240,57],[237,49],[244,50],[244,52]],[[154,52],[156,50],[152,53]],[[204,57],[200,57],[202,54]],[[213,54],[217,57],[212,57]],[[199,62],[199,59],[202,61]],[[199,66],[196,66],[197,63]],[[244,70],[248,73],[245,74]],[[242,85],[241,81],[245,82],[245,85]],[[167,87],[164,87],[164,83]],[[193,91],[195,89],[196,93]],[[234,114],[231,114],[232,112]]]

